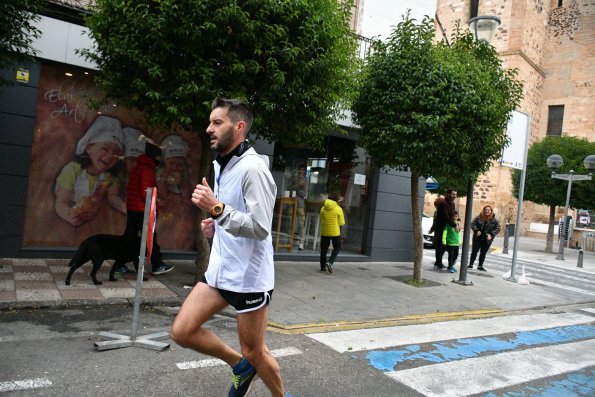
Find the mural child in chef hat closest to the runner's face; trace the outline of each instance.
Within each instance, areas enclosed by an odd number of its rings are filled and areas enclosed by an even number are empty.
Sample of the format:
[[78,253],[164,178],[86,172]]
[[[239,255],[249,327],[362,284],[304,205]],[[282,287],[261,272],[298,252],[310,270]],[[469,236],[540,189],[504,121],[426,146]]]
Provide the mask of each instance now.
[[[182,203],[193,207],[191,183],[188,175],[188,144],[179,135],[168,135],[161,141],[163,149],[162,167],[157,172],[157,192],[159,203],[164,208],[170,207],[179,196]],[[173,197],[172,197],[173,196]],[[170,208],[171,209],[171,208]]]

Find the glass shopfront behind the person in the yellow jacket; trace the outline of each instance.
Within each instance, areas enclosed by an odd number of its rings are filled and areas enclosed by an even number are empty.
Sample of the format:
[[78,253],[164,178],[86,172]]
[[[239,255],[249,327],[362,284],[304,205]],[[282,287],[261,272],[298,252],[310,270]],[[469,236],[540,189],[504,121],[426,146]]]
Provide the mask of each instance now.
[[324,152],[277,143],[273,159],[278,191],[273,219],[275,251],[317,256],[320,209],[329,194],[336,192],[346,221],[341,231],[342,252],[363,254],[368,171],[368,157],[353,139],[329,136]]

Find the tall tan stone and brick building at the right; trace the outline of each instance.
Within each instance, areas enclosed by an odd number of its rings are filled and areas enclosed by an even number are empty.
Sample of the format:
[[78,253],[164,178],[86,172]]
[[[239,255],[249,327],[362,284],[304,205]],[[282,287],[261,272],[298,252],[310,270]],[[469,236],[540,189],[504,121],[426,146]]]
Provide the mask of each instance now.
[[[438,0],[447,34],[472,16],[501,19],[491,44],[504,67],[518,69],[524,99],[518,109],[531,116],[530,144],[548,135],[595,140],[595,3],[577,0]],[[433,195],[424,208],[433,211]],[[464,211],[465,200],[460,200]],[[474,189],[474,208],[491,205],[501,221],[516,221],[511,169],[494,163]],[[563,208],[559,215],[562,214]],[[591,209],[593,210],[593,209]],[[431,213],[431,212],[430,212]],[[521,231],[547,223],[549,210],[525,203]]]

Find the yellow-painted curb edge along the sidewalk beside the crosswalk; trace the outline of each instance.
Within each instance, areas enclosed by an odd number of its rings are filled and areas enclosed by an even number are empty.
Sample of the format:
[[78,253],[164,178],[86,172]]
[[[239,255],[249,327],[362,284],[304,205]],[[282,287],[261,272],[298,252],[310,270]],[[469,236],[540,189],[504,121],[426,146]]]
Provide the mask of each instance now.
[[507,312],[504,309],[477,309],[458,312],[409,314],[399,317],[387,317],[376,320],[335,321],[329,323],[282,324],[269,321],[267,325],[269,330],[273,332],[283,334],[311,334],[318,332],[335,332],[363,328],[383,328],[402,325],[428,324],[440,321],[498,317],[505,314],[507,314]]

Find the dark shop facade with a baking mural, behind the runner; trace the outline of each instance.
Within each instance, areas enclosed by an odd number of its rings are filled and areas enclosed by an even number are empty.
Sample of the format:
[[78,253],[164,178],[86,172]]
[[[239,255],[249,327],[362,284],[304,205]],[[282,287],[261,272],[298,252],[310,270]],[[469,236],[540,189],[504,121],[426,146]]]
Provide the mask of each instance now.
[[[76,17],[88,4],[49,4],[38,23],[42,36],[34,42],[36,62],[0,71],[15,83],[0,91],[0,183],[5,192],[0,198],[0,257],[69,257],[90,235],[121,234],[126,164],[134,156],[128,138],[140,132],[169,148],[158,170],[160,245],[169,257],[194,258],[199,231],[196,208],[188,202],[201,177],[200,139],[149,126],[142,114],[117,104],[88,106],[101,95],[92,79],[94,65],[76,53],[92,45]],[[318,212],[335,191],[347,221],[342,256],[411,261],[409,174],[372,167],[348,115],[338,124],[341,133],[330,133],[324,150],[255,142],[269,156],[278,188],[273,219],[277,257],[318,260]],[[81,157],[92,157],[94,145],[104,145],[120,160],[92,172],[81,165]],[[300,172],[305,190],[295,184]],[[303,217],[298,198],[304,199]]]

